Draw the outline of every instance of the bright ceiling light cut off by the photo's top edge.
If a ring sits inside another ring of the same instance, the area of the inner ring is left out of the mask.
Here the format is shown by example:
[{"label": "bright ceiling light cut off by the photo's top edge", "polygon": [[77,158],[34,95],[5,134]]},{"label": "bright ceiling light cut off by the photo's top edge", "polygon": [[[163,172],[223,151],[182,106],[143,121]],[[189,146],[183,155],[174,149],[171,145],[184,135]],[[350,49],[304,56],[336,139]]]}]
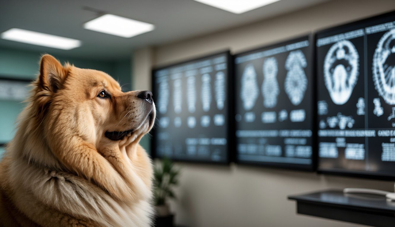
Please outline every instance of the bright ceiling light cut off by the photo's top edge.
[{"label": "bright ceiling light cut off by the photo's top edge", "polygon": [[240,14],[280,0],[195,0],[231,13]]}]

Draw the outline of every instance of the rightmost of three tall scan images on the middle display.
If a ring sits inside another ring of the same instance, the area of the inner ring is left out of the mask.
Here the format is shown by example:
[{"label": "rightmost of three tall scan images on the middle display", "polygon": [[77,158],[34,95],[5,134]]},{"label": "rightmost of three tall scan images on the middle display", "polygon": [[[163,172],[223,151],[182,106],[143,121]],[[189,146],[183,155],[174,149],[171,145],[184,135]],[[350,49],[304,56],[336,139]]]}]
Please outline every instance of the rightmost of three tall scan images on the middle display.
[{"label": "rightmost of three tall scan images on the middle display", "polygon": [[284,82],[285,93],[293,105],[299,105],[307,89],[307,76],[304,68],[307,67],[306,57],[301,50],[291,51],[285,61],[288,71]]}]

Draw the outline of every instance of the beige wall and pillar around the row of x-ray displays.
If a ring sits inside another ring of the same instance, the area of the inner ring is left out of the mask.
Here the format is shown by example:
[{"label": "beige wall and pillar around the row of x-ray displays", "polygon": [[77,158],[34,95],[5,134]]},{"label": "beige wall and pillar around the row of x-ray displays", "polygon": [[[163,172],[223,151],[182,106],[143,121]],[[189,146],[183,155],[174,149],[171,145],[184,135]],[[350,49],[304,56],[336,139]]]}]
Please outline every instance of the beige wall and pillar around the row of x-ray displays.
[{"label": "beige wall and pillar around the row of x-ray displays", "polygon": [[[222,32],[154,48],[149,61],[166,65],[194,56],[230,49],[232,53],[302,35],[328,26],[395,9],[394,0],[333,0],[301,11]],[[145,48],[134,59],[146,58]],[[146,58],[147,59],[147,58]],[[147,62],[135,64],[135,87],[145,89],[150,79]],[[141,83],[140,83],[141,82]],[[142,86],[140,88],[138,86]],[[333,177],[260,167],[178,164],[182,168],[177,201],[171,203],[180,225],[211,226],[358,226],[295,214],[287,195],[327,188],[367,187],[393,190],[393,182]]]}]

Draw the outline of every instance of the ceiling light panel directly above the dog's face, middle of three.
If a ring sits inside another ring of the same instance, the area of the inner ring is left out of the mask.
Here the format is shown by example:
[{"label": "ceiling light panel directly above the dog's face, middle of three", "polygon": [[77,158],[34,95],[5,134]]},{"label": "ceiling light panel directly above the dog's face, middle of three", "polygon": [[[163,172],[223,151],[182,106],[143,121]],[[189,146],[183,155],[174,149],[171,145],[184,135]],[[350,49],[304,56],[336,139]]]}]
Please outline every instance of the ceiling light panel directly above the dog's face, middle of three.
[{"label": "ceiling light panel directly above the dog's face, middle of three", "polygon": [[146,22],[105,14],[84,24],[84,28],[96,32],[130,38],[154,30],[155,26]]}]

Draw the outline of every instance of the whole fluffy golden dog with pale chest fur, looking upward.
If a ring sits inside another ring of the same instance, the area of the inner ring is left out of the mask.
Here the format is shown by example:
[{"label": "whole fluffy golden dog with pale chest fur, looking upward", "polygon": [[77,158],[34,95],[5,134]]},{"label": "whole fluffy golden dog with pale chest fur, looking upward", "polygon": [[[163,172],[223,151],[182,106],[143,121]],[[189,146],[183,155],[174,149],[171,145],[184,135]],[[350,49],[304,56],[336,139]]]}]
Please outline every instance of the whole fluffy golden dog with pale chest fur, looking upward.
[{"label": "whole fluffy golden dog with pale chest fur, looking upward", "polygon": [[149,91],[44,55],[0,163],[0,226],[149,226]]}]

